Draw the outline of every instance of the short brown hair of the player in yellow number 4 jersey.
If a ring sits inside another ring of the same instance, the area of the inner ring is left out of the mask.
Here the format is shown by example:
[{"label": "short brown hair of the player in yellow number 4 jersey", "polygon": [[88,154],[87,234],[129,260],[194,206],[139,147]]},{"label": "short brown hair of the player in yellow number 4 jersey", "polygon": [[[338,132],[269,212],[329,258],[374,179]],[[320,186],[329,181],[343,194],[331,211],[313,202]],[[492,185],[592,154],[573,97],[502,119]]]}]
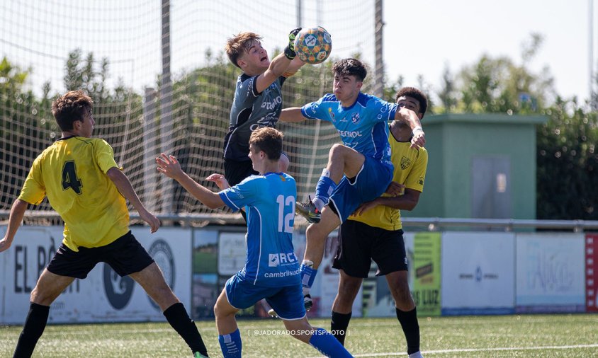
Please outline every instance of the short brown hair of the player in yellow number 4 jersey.
[{"label": "short brown hair of the player in yellow number 4 jersey", "polygon": [[69,91],[52,102],[52,115],[62,132],[73,129],[73,122],[83,120],[91,112],[91,100],[83,91]]}]

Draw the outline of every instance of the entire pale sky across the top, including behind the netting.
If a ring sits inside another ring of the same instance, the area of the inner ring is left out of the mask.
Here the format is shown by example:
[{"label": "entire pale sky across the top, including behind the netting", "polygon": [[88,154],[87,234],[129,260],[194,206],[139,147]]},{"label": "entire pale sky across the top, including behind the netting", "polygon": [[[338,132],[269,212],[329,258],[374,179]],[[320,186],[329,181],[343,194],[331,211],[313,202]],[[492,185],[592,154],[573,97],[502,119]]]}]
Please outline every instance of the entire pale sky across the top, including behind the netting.
[{"label": "entire pale sky across the top, including behind the netting", "polygon": [[[388,79],[401,74],[405,85],[417,86],[417,76],[422,75],[436,92],[445,66],[456,74],[484,53],[520,63],[521,44],[531,33],[540,33],[543,46],[529,67],[535,72],[548,67],[560,95],[583,100],[589,93],[589,1],[383,0]],[[110,58],[111,83],[120,78],[142,91],[155,82],[161,68],[159,4],[158,0],[0,0],[0,52],[34,69],[33,88],[52,81],[52,87],[61,91],[67,53],[80,47],[97,58]],[[243,30],[264,35],[269,52],[283,47],[286,34],[295,27],[295,4],[296,0],[172,0],[173,73],[200,66],[206,47],[219,52],[227,37]],[[332,34],[335,57],[355,50],[373,54],[373,40],[367,37],[373,33],[371,4],[322,0],[318,5],[316,0],[303,0],[303,23],[325,25]],[[373,56],[366,57],[372,60]]]}]

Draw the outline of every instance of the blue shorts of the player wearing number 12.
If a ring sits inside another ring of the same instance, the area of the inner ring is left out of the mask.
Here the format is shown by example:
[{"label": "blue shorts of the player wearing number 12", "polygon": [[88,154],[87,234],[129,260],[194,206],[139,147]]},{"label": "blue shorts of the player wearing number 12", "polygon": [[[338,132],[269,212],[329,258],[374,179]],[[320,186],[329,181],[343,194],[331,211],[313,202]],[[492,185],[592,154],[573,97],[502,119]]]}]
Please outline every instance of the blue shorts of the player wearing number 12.
[{"label": "blue shorts of the player wearing number 12", "polygon": [[305,317],[301,284],[283,287],[256,286],[235,275],[227,280],[225,290],[228,303],[235,308],[248,308],[257,301],[266,299],[276,315],[283,320],[298,320]]}]

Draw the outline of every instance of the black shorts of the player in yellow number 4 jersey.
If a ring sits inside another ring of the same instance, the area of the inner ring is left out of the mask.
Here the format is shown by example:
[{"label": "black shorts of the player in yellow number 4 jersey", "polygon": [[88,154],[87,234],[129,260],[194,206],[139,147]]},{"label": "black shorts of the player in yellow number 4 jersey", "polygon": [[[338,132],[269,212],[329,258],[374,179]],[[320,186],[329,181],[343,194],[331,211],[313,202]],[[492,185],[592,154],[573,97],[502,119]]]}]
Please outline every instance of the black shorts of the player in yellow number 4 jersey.
[{"label": "black shorts of the player in yellow number 4 jersey", "polygon": [[47,270],[55,275],[84,279],[98,262],[106,262],[123,277],[140,272],[150,266],[154,259],[129,231],[106,246],[80,247],[78,252],[62,243],[47,265]]}]

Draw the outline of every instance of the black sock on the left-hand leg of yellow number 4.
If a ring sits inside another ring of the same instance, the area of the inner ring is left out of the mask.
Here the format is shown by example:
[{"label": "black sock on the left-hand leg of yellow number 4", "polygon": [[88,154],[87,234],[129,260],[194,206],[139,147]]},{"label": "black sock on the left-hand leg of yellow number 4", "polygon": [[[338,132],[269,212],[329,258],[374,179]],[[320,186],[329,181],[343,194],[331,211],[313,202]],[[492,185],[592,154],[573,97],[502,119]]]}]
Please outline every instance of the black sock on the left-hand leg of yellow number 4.
[{"label": "black sock on the left-hand leg of yellow number 4", "polygon": [[31,302],[29,313],[27,313],[27,318],[23,325],[23,331],[18,336],[13,358],[31,357],[35,345],[38,344],[38,340],[42,336],[42,333],[44,333],[48,313],[50,313],[50,306],[42,306]]}]

